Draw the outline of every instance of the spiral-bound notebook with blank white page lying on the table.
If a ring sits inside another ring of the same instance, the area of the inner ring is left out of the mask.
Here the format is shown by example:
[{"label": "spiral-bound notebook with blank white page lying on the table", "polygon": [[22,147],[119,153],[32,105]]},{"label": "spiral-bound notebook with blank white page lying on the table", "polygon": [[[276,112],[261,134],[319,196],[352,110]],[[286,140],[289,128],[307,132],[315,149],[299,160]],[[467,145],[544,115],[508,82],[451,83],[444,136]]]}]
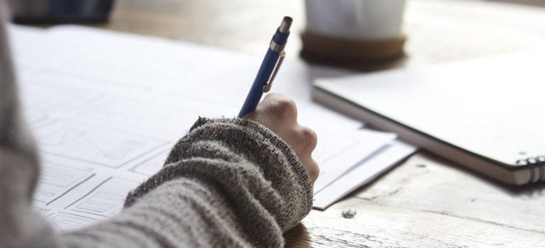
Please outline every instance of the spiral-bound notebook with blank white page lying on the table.
[{"label": "spiral-bound notebook with blank white page lying on the table", "polygon": [[545,50],[316,80],[313,99],[507,184],[544,181]]}]

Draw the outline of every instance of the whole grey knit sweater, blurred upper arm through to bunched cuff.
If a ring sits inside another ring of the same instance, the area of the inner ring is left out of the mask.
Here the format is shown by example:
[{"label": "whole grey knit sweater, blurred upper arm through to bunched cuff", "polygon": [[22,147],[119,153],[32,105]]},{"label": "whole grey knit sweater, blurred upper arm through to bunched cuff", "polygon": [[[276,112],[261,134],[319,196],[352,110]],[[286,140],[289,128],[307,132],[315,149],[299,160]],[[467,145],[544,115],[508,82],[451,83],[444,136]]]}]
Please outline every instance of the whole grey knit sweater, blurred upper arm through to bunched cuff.
[{"label": "whole grey knit sweater, blurred upper arm through to bunched cuff", "polygon": [[311,209],[286,142],[251,121],[200,118],[119,215],[58,234],[31,208],[40,163],[15,81],[0,23],[0,247],[281,247]]}]

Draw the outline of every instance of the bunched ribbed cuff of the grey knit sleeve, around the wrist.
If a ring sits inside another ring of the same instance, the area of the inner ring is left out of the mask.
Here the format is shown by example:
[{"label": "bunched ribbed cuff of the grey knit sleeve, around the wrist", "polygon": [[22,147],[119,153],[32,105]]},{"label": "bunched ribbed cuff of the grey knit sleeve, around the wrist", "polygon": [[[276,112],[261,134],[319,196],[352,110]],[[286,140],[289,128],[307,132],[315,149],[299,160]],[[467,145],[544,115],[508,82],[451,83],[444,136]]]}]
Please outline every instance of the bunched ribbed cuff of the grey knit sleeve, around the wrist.
[{"label": "bunched ribbed cuff of the grey knit sleeve, around the wrist", "polygon": [[[253,168],[247,164],[254,164]],[[246,187],[242,194],[262,198],[258,201],[275,216],[282,231],[297,225],[312,207],[311,180],[297,154],[275,133],[250,120],[199,118],[173,147],[164,169],[129,193],[125,206],[180,176],[215,178],[224,187],[231,180],[225,177],[232,177],[234,187]]]}]

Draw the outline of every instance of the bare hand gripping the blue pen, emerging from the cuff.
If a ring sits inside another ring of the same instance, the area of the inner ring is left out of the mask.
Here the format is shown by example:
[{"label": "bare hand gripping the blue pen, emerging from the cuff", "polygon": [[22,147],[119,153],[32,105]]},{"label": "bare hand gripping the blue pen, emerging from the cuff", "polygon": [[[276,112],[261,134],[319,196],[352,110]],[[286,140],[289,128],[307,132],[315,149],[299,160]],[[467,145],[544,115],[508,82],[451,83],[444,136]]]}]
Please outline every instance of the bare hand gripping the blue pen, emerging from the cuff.
[{"label": "bare hand gripping the blue pen, emerging from the cuff", "polygon": [[264,125],[285,140],[301,160],[314,184],[320,169],[311,154],[318,140],[313,130],[297,123],[297,106],[292,99],[282,94],[268,94],[256,111],[243,118]]}]

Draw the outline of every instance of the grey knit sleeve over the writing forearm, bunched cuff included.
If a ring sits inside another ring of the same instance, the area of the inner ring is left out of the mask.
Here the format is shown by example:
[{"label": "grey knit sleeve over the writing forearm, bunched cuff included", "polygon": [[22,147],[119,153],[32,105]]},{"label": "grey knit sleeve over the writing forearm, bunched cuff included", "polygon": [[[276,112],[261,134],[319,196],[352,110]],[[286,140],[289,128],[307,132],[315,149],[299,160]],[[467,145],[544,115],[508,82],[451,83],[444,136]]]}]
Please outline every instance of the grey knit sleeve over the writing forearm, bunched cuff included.
[{"label": "grey knit sleeve over the writing forearm, bunched cuff included", "polygon": [[309,175],[286,142],[248,120],[200,118],[120,215],[64,238],[74,247],[282,247],[282,232],[311,205]]}]

